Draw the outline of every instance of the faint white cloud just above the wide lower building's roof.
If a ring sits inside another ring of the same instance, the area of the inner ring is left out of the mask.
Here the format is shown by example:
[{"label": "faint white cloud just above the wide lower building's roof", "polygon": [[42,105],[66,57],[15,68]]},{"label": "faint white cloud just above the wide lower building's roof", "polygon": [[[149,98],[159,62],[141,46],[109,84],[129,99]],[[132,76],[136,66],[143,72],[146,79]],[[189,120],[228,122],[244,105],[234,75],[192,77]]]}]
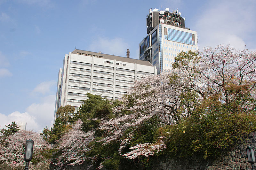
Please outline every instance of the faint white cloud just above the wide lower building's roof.
[{"label": "faint white cloud just above the wide lower building's roof", "polygon": [[92,51],[101,51],[105,54],[114,54],[125,57],[128,44],[121,38],[102,38],[92,41],[89,49]]}]

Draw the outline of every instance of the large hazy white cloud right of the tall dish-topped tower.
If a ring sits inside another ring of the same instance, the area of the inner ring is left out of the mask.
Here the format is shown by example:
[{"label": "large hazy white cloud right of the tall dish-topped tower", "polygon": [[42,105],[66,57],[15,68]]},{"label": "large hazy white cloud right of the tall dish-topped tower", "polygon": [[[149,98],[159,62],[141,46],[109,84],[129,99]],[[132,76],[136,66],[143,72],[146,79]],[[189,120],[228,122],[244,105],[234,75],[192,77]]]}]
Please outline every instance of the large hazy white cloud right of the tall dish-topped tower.
[{"label": "large hazy white cloud right of the tall dish-topped tower", "polygon": [[[256,15],[255,2],[210,1],[199,18],[195,19],[199,47],[228,44],[239,50],[244,49],[244,40],[254,32]],[[239,9],[239,10],[234,10]],[[250,13],[248,15],[245,14]]]}]

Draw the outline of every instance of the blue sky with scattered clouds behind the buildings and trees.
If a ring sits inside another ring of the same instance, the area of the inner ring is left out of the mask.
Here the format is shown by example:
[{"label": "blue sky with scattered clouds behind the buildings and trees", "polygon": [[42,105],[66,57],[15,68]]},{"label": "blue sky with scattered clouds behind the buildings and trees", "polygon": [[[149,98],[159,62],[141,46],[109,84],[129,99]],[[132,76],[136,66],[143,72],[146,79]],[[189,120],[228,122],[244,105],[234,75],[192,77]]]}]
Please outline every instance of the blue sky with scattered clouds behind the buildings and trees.
[{"label": "blue sky with scattered clouds behind the buildings and trees", "polygon": [[58,71],[75,48],[123,57],[128,48],[138,59],[150,8],[178,8],[199,50],[256,50],[255,0],[0,0],[0,128],[52,125]]}]

